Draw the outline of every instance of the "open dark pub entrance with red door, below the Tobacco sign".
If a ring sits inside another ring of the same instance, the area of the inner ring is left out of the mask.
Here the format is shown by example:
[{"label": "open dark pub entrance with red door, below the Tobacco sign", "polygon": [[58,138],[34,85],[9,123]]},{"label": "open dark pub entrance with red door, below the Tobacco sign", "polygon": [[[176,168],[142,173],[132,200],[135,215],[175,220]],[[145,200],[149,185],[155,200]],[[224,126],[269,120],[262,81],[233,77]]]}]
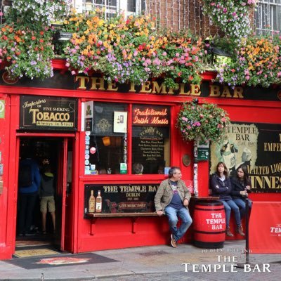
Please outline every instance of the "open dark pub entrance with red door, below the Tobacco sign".
[{"label": "open dark pub entrance with red door, below the Tobacco sign", "polygon": [[[41,184],[38,192],[30,194],[24,187],[18,189],[15,256],[20,249],[33,249],[34,253],[35,249],[44,249],[42,254],[46,249],[64,251],[65,228],[70,228],[67,226],[70,220],[65,218],[65,214],[70,214],[66,210],[66,198],[72,185],[72,138],[27,136],[20,137],[18,142],[19,171],[22,169],[22,159],[32,159],[39,169]],[[22,174],[19,173],[19,181]],[[53,193],[50,193],[50,187],[53,187]],[[41,200],[46,200],[47,196],[53,196],[54,200],[50,200],[47,209],[44,209]],[[37,252],[40,254],[40,250]]]}]

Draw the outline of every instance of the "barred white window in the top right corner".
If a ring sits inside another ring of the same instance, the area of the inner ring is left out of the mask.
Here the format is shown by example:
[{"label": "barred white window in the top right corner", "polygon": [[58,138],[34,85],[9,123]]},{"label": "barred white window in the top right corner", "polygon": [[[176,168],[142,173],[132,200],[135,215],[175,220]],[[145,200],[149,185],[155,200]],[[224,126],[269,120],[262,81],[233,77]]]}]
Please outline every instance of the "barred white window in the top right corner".
[{"label": "barred white window in the top right corner", "polygon": [[258,1],[255,11],[257,35],[281,31],[281,0]]}]

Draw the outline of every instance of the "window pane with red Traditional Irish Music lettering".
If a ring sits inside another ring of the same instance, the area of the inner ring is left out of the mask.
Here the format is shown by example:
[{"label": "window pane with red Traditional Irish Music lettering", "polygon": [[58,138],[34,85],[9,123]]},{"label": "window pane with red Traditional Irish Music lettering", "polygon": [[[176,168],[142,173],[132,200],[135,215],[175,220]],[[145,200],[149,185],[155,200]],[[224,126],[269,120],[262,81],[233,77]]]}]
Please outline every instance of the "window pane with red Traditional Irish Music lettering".
[{"label": "window pane with red Traditional Irish Music lettering", "polygon": [[170,107],[133,105],[132,173],[164,174],[170,165]]}]

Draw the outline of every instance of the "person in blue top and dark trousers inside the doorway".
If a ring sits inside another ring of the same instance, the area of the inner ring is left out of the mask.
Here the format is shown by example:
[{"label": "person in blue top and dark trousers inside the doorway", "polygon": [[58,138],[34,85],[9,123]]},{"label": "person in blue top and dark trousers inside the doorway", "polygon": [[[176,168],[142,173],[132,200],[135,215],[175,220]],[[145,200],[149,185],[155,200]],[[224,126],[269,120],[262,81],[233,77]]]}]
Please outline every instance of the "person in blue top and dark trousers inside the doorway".
[{"label": "person in blue top and dark trousers inside the doorway", "polygon": [[32,148],[25,148],[19,165],[18,175],[18,233],[19,235],[34,235],[30,231],[37,200],[41,176],[39,165],[32,158]]}]

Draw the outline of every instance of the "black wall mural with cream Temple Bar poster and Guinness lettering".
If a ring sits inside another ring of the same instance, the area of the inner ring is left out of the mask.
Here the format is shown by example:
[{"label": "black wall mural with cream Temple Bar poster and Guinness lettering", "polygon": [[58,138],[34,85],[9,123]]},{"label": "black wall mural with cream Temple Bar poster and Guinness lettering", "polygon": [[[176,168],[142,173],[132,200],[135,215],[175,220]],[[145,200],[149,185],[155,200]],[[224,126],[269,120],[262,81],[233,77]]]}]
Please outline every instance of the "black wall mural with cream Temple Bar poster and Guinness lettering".
[{"label": "black wall mural with cream Temple Bar poster and Guinness lettering", "polygon": [[281,192],[281,125],[231,123],[223,143],[211,143],[211,169],[225,162],[230,176],[247,166],[252,192]]}]

